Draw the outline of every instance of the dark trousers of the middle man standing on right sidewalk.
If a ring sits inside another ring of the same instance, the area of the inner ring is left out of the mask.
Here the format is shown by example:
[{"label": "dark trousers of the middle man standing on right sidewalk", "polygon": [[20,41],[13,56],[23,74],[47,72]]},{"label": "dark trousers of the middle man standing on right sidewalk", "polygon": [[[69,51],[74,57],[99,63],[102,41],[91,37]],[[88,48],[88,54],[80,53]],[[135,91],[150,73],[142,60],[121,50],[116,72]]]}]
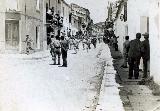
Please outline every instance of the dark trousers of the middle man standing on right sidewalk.
[{"label": "dark trousers of the middle man standing on right sidewalk", "polygon": [[128,58],[128,64],[129,64],[129,78],[132,78],[134,74],[135,79],[138,79],[140,58]]}]

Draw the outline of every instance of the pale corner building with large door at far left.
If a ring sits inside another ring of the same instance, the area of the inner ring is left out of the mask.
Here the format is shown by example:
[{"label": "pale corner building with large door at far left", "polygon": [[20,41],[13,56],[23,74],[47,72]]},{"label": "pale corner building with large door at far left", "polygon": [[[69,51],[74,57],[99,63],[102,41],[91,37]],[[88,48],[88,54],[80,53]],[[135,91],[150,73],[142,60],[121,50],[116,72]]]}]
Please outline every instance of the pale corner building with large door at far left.
[{"label": "pale corner building with large door at far left", "polygon": [[1,52],[25,52],[26,35],[35,50],[44,48],[42,0],[2,0],[0,7]]}]

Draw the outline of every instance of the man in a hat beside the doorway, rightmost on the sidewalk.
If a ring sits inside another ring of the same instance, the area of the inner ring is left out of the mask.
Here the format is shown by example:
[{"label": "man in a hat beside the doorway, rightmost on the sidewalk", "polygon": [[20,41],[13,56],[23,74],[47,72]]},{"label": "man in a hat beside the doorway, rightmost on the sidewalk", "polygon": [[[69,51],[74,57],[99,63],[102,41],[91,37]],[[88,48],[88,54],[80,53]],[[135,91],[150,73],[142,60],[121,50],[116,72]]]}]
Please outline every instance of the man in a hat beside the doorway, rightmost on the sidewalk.
[{"label": "man in a hat beside the doorway, rightmost on the sidewalk", "polygon": [[150,60],[150,45],[149,45],[149,34],[145,33],[142,34],[145,38],[144,41],[142,41],[142,58],[143,58],[143,78],[147,78],[147,70],[148,70],[148,61]]}]

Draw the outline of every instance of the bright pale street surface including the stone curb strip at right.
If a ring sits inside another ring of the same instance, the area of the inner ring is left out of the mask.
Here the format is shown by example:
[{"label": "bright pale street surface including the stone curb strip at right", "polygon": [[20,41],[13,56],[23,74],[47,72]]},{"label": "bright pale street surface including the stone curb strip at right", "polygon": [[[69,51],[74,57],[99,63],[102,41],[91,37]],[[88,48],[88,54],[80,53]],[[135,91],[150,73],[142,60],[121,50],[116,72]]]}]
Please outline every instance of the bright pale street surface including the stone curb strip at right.
[{"label": "bright pale street surface including the stone curb strip at right", "polygon": [[[69,51],[67,68],[52,65],[47,53],[39,59],[1,56],[1,111],[123,111],[108,45],[101,43],[88,53]],[[113,74],[106,78],[106,73]],[[108,96],[104,85],[112,91]]]}]

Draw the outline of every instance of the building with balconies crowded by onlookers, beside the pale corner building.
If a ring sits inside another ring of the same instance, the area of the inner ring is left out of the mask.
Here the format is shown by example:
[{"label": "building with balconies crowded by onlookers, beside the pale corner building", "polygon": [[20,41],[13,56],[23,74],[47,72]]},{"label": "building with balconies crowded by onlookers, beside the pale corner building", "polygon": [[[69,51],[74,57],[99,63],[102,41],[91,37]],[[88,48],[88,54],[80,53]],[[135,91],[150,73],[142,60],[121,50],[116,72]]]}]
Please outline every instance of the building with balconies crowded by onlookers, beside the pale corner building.
[{"label": "building with balconies crowded by onlookers, beside the pale corner building", "polygon": [[54,33],[54,35],[59,35],[61,32],[62,26],[59,25],[59,21],[62,20],[62,5],[63,0],[46,0],[46,15],[44,19],[46,19],[46,36],[49,37],[50,33]]}]

